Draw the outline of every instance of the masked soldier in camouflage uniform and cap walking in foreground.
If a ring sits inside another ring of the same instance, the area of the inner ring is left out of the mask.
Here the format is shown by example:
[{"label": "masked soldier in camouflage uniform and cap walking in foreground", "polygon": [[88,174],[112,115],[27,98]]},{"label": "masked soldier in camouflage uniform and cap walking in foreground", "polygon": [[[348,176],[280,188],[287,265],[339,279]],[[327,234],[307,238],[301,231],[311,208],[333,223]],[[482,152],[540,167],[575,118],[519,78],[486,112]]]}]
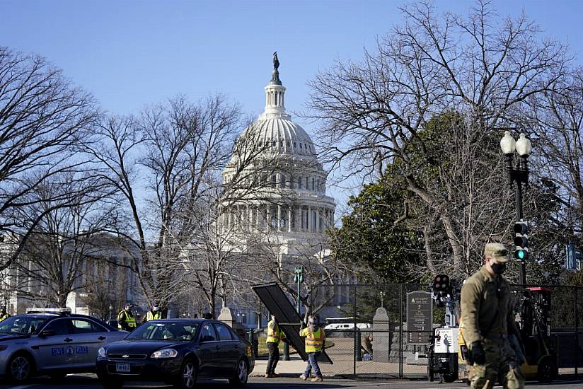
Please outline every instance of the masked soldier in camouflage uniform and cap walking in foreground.
[{"label": "masked soldier in camouflage uniform and cap walking in foreground", "polygon": [[508,389],[524,388],[524,378],[508,335],[517,334],[510,309],[510,286],[502,277],[508,262],[500,243],[488,243],[485,264],[461,289],[463,338],[470,350],[471,388],[492,389],[497,378]]}]

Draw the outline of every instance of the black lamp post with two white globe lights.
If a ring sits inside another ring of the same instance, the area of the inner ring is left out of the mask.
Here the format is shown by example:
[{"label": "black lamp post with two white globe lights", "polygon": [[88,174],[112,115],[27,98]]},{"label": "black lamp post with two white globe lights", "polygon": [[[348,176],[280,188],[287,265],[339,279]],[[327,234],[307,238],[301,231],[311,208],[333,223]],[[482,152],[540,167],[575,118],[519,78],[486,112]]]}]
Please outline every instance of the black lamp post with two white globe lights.
[{"label": "black lamp post with two white globe lights", "polygon": [[[522,184],[528,187],[529,185],[529,164],[526,158],[531,155],[531,141],[525,134],[520,134],[516,141],[510,135],[510,132],[504,132],[504,137],[500,140],[500,149],[506,156],[506,167],[508,170],[508,178],[510,185],[516,182],[516,219],[519,222],[524,221],[522,214]],[[514,168],[514,153],[517,153],[519,158],[516,161],[516,168]],[[526,250],[516,250],[515,257],[519,263],[519,284],[526,284],[526,260],[528,259]]]}]

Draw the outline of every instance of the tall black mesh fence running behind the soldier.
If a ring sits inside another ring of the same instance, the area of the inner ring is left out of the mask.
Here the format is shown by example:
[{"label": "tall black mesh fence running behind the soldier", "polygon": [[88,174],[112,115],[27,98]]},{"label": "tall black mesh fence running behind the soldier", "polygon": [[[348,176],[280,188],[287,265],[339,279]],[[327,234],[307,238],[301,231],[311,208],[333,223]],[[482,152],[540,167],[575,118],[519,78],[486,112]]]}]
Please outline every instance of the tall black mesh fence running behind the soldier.
[{"label": "tall black mesh fence running behind the soldier", "polygon": [[[534,291],[550,291],[552,303],[550,314],[546,315],[549,323],[536,325],[535,331],[548,331],[546,337],[556,352],[560,378],[578,378],[583,367],[583,331],[580,327],[583,288],[528,287]],[[520,301],[524,301],[521,296],[526,289],[514,285],[513,290],[516,292],[513,301],[518,320]],[[323,373],[362,378],[427,377],[427,352],[432,329],[426,326],[426,330],[420,331],[418,327],[408,329],[407,326],[407,296],[415,291],[429,293],[429,288],[421,284],[345,284],[317,289],[312,296],[313,306],[325,305],[318,312],[320,321],[335,327],[326,331],[328,339],[333,342],[326,352],[334,364],[322,364]],[[434,303],[432,306],[432,327],[435,328],[444,323],[445,308]],[[373,318],[377,308],[385,308],[388,318],[375,326]],[[538,318],[544,320],[541,303],[533,309]],[[458,308],[456,311],[459,312]],[[525,347],[528,350],[529,344]]]}]

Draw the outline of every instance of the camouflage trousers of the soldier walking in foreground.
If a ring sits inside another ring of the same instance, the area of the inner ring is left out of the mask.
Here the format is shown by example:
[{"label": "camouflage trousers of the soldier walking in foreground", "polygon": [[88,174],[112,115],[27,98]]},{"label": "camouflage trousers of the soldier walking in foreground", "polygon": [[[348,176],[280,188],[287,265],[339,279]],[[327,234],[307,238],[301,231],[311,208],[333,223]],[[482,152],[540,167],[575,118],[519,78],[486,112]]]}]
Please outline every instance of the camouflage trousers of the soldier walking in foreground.
[{"label": "camouflage trousers of the soldier walking in foreground", "polygon": [[524,377],[508,339],[484,339],[486,364],[473,364],[468,378],[472,389],[492,389],[496,382],[504,389],[523,389]]}]

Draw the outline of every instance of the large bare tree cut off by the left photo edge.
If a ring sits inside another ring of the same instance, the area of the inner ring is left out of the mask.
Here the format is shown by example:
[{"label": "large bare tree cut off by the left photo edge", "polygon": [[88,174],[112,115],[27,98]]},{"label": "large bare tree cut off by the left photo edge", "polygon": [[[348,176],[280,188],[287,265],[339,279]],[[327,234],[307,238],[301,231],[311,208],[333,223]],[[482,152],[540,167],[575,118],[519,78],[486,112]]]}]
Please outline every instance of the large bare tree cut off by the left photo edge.
[{"label": "large bare tree cut off by the left photo edge", "polygon": [[[22,244],[45,214],[21,219],[30,206],[28,194],[42,188],[53,175],[84,170],[79,140],[96,120],[93,98],[71,86],[61,71],[35,55],[0,47],[0,231],[19,236]],[[68,197],[52,198],[59,209]],[[21,248],[0,263],[5,269]]]}]

